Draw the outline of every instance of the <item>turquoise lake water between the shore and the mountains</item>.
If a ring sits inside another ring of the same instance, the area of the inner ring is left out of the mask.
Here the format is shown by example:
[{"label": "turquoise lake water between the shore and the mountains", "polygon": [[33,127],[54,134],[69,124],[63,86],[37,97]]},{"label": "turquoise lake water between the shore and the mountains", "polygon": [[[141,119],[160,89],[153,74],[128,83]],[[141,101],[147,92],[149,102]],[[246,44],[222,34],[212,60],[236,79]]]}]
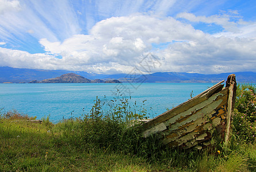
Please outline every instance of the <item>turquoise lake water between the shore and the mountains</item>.
[{"label": "turquoise lake water between the shore and the mountains", "polygon": [[[64,118],[79,117],[83,108],[90,112],[96,96],[107,102],[119,89],[122,96],[144,108],[150,118],[162,114],[167,108],[190,99],[213,83],[122,83],[122,84],[0,84],[0,108],[17,110],[41,119],[50,115],[52,122]],[[104,98],[105,97],[105,98]]]}]

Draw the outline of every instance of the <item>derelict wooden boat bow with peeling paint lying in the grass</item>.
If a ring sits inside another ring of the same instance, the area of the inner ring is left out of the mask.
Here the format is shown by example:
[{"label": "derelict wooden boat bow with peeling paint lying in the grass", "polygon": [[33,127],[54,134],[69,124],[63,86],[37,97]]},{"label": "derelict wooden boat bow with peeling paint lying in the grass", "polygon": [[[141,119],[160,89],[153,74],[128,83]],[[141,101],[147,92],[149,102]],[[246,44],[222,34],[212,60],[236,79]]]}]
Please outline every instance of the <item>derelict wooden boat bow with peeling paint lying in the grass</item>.
[{"label": "derelict wooden boat bow with peeling paint lying in the grass", "polygon": [[215,134],[228,144],[235,104],[235,75],[228,76],[226,87],[223,82],[148,120],[142,126],[143,136],[158,134],[164,144],[185,149],[206,147],[213,142]]}]

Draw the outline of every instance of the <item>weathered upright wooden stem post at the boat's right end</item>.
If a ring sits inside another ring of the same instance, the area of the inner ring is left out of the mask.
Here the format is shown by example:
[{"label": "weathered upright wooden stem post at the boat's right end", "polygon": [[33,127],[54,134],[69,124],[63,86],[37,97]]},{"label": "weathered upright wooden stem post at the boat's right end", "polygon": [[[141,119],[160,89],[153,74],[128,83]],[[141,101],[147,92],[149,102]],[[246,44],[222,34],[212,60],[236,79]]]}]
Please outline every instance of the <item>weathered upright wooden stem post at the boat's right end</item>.
[{"label": "weathered upright wooden stem post at the boat's right end", "polygon": [[231,115],[235,107],[235,97],[236,97],[236,80],[235,74],[228,76],[226,81],[226,88],[228,88],[228,102],[227,102],[227,122],[226,122],[226,134],[225,143],[229,145],[230,135],[231,135]]}]

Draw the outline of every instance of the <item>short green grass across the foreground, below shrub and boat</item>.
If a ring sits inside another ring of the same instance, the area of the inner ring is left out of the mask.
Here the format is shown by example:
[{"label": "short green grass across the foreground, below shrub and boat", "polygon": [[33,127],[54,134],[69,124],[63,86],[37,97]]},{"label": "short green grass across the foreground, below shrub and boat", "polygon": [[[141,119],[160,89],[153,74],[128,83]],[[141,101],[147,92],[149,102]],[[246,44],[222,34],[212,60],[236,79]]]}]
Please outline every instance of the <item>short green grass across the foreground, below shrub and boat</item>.
[{"label": "short green grass across the foreground, below shrub and boat", "polygon": [[58,124],[13,120],[0,122],[0,171],[250,171],[256,161],[256,146],[235,139],[232,150],[219,148],[220,154],[218,148],[170,150],[154,138],[137,143],[140,151],[135,151],[89,144],[79,138],[85,126],[78,119]]}]

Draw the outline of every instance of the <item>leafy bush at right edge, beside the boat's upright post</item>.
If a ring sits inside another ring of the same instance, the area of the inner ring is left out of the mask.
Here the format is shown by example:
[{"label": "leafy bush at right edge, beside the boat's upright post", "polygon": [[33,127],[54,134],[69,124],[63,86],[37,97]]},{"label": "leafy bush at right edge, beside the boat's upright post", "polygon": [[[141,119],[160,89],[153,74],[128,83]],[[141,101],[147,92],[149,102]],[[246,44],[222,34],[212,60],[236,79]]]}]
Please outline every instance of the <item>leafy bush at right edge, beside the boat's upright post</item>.
[{"label": "leafy bush at right edge, beside the boat's upright post", "polygon": [[244,142],[254,142],[256,137],[256,87],[238,85],[234,110],[234,132]]}]

